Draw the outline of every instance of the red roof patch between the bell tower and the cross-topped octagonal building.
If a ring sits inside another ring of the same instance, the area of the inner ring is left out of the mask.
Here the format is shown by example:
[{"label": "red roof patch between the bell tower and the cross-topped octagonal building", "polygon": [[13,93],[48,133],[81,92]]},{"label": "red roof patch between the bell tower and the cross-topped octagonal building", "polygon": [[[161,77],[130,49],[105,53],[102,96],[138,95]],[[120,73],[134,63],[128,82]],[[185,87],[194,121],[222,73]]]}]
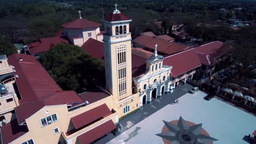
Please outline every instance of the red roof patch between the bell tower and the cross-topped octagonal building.
[{"label": "red roof patch between the bell tower and the cross-topped octagonal building", "polygon": [[101,41],[89,38],[81,48],[89,53],[92,57],[100,58],[104,60],[104,48]]}]

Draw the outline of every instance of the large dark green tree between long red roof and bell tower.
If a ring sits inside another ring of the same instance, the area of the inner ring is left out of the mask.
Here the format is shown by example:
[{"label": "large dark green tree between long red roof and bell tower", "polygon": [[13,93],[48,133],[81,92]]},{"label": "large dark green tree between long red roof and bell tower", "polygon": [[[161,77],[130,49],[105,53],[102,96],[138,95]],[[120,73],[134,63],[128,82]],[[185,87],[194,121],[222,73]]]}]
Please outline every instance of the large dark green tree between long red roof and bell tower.
[{"label": "large dark green tree between long red roof and bell tower", "polygon": [[92,58],[79,46],[53,46],[50,51],[40,55],[39,61],[64,90],[80,93],[105,85],[102,61]]}]

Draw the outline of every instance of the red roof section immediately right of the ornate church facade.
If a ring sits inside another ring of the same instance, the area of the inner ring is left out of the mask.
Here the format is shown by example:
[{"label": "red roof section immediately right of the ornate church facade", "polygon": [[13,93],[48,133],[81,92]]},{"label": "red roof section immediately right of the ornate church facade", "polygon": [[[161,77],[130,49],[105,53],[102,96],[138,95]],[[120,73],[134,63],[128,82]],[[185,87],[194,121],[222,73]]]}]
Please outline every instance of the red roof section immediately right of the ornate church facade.
[{"label": "red roof section immediately right of the ornate church facade", "polygon": [[171,65],[173,77],[186,73],[201,66],[201,62],[194,49],[183,51],[175,55],[167,56],[163,65]]}]

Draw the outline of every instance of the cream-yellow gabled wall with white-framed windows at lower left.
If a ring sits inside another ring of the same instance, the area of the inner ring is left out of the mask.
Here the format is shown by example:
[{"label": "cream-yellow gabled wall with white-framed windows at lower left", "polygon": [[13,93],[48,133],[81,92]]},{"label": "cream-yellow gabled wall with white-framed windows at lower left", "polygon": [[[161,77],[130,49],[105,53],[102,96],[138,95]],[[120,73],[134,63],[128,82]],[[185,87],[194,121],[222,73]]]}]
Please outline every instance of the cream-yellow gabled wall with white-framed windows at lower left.
[{"label": "cream-yellow gabled wall with white-framed windows at lower left", "polygon": [[[45,113],[49,111],[49,113]],[[42,127],[40,119],[57,114],[57,121]],[[20,137],[14,143],[22,143],[33,138],[34,143],[57,143],[61,140],[61,132],[67,131],[70,118],[67,117],[67,105],[46,106],[26,120],[29,130],[28,135]],[[60,133],[54,134],[54,128],[59,128]],[[63,139],[62,139],[63,141]]]}]

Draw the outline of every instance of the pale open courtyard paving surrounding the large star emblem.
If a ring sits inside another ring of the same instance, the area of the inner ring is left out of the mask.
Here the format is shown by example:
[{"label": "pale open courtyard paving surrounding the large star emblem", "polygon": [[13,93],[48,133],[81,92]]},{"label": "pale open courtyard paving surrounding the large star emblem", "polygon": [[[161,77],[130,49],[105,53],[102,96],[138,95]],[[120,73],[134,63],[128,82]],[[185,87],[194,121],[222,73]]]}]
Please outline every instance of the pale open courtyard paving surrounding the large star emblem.
[{"label": "pale open courtyard paving surrounding the large star emblem", "polygon": [[180,116],[185,121],[202,123],[202,128],[218,139],[213,143],[247,143],[243,139],[255,130],[256,117],[216,98],[207,101],[203,99],[206,95],[201,91],[186,93],[178,104],[166,105],[108,143],[164,143],[155,135],[164,127],[162,120],[170,122]]}]

